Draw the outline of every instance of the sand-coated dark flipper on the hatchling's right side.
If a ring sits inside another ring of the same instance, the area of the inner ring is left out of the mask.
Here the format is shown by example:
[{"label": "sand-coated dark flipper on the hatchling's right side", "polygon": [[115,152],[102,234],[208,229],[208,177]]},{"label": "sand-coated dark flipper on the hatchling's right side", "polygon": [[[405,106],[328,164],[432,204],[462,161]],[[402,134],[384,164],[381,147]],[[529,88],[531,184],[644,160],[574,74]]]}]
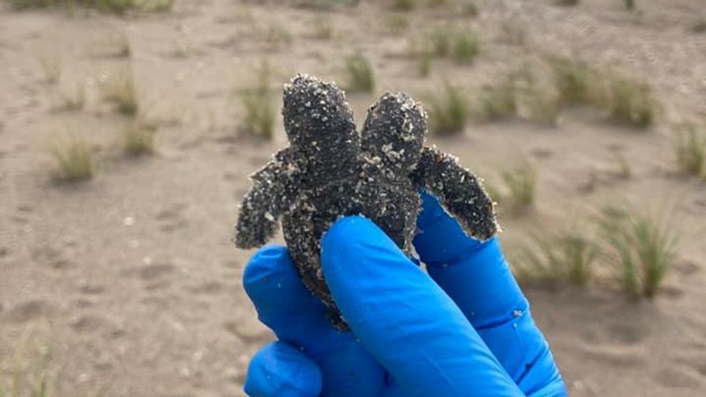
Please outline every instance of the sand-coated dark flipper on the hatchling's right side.
[{"label": "sand-coated dark flipper on the hatchling's right side", "polygon": [[455,157],[424,147],[410,177],[417,188],[436,196],[469,236],[488,240],[499,231],[493,200],[479,178],[460,166]]}]

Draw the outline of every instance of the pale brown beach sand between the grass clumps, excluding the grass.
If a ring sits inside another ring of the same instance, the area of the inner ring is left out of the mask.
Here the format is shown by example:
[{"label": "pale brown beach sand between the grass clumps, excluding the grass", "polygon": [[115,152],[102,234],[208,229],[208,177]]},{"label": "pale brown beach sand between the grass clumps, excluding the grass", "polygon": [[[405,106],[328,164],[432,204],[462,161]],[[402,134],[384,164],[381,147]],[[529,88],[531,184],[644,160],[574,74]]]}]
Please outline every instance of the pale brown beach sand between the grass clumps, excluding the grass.
[{"label": "pale brown beach sand between the grass clumps, excluding the grass", "polygon": [[[0,6],[2,382],[16,369],[32,374],[47,351],[54,396],[243,395],[249,358],[273,336],[241,288],[251,252],[229,238],[247,176],[286,145],[281,121],[273,142],[238,133],[232,92],[253,84],[261,61],[279,94],[297,72],[345,83],[342,59],[361,51],[377,85],[348,95],[360,122],[383,90],[424,100],[443,78],[470,90],[545,51],[649,81],[662,103],[657,123],[642,132],[565,111],[556,128],[472,123],[431,141],[489,181],[523,157],[537,164],[537,208],[501,216],[510,251],[527,232],[604,204],[669,209],[682,244],[654,301],[630,302],[610,280],[527,293],[573,396],[706,395],[706,183],[676,172],[673,129],[706,117],[706,35],[690,32],[706,18],[703,0],[638,0],[632,13],[618,0],[488,0],[477,1],[478,18],[421,7],[400,34],[377,2],[330,11],[283,3],[177,0],[168,13],[124,18]],[[313,37],[321,18],[333,38]],[[434,61],[420,78],[408,37],[441,24],[475,28],[481,54],[470,65]],[[508,24],[525,30],[524,45],[508,44]],[[291,42],[275,48],[264,37],[276,29]],[[116,54],[121,34],[129,58]],[[58,83],[44,81],[40,59],[59,61]],[[100,97],[101,81],[128,65],[144,117],[159,126],[148,157],[121,154],[124,116]],[[57,111],[56,97],[78,82],[85,108]],[[65,130],[90,142],[99,161],[91,181],[52,180],[49,148]],[[604,176],[616,152],[631,178]]]}]

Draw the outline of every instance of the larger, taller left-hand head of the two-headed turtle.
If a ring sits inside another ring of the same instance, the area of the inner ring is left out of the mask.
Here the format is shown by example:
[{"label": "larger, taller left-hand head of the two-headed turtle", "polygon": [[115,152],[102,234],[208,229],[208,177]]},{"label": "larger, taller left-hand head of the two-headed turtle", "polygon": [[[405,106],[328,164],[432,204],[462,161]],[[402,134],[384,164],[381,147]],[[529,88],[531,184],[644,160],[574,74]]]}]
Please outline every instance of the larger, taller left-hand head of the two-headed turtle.
[{"label": "larger, taller left-hand head of the two-headed turtle", "polygon": [[283,99],[285,130],[295,151],[312,156],[359,147],[353,112],[335,83],[299,74],[285,85]]}]

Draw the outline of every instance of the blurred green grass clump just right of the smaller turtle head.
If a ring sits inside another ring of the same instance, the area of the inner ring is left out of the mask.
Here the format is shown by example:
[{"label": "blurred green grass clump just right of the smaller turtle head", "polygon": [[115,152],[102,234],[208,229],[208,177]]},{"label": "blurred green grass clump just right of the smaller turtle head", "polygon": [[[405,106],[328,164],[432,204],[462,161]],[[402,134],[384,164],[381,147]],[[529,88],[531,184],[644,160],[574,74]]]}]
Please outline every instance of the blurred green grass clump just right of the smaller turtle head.
[{"label": "blurred green grass clump just right of the smaller turtle head", "polygon": [[462,133],[468,122],[469,103],[457,87],[445,84],[443,92],[427,101],[429,127],[436,135]]}]

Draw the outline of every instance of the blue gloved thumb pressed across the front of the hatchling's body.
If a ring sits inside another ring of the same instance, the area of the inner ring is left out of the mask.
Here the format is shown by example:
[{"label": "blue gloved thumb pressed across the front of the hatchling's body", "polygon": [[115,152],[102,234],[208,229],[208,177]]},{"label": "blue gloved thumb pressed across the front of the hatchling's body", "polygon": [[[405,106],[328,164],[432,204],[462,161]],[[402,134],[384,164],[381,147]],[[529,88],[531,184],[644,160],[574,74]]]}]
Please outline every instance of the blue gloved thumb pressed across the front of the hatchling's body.
[{"label": "blue gloved thumb pressed across the front of the hatchling's body", "polygon": [[453,300],[369,219],[337,221],[322,246],[343,317],[407,395],[522,395]]}]

